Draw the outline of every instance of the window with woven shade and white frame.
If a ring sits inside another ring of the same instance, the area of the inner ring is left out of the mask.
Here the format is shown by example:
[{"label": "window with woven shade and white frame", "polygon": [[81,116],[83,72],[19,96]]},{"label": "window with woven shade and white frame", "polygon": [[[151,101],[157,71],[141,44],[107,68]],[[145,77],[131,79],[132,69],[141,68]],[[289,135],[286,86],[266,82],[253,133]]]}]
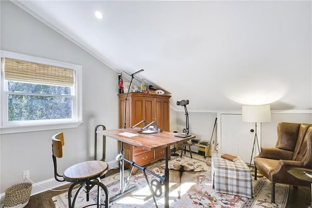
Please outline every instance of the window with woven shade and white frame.
[{"label": "window with woven shade and white frame", "polygon": [[1,69],[1,133],[81,123],[81,66],[1,51]]}]

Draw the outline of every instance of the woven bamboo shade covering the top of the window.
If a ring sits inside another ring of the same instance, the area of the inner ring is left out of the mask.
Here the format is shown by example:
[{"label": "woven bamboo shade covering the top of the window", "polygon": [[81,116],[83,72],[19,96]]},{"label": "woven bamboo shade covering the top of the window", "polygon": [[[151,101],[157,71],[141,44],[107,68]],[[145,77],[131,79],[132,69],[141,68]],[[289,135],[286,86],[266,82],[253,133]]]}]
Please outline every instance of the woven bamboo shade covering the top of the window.
[{"label": "woven bamboo shade covering the top of the window", "polygon": [[4,79],[18,82],[74,86],[75,70],[4,58]]}]

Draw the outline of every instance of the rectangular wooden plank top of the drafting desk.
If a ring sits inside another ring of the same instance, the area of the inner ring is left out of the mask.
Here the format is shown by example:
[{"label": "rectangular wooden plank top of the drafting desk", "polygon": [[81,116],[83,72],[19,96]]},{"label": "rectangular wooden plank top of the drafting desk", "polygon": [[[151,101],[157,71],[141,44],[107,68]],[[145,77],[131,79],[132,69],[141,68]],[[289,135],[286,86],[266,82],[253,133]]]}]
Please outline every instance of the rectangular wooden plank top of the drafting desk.
[{"label": "rectangular wooden plank top of the drafting desk", "polygon": [[[190,139],[194,139],[195,136],[192,135],[190,137],[181,138],[175,137],[176,133],[162,131],[153,134],[140,134],[138,133],[141,131],[140,128],[119,128],[119,129],[112,129],[112,130],[104,130],[104,131],[97,131],[99,134],[103,134],[107,137],[116,139],[118,141],[127,143],[129,145],[139,146],[141,148],[147,150],[155,150],[159,148],[164,148],[167,146],[179,144]],[[138,134],[135,137],[126,137],[119,135],[119,133],[129,132],[133,134]]]}]

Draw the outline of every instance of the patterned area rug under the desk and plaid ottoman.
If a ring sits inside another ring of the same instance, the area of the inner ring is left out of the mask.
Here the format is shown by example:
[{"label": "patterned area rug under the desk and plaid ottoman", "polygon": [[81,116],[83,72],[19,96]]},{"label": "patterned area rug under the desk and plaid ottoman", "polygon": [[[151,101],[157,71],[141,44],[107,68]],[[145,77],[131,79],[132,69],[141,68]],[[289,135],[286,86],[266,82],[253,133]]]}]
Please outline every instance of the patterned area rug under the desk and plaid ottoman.
[{"label": "patterned area rug under the desk and plaid ottoman", "polygon": [[[180,157],[171,157],[170,168],[170,193],[169,205],[172,208],[286,208],[289,186],[275,185],[275,203],[271,203],[271,183],[266,178],[253,180],[254,198],[216,193],[211,185],[211,158],[204,158],[201,155],[193,154],[193,159],[188,153]],[[150,166],[148,170],[162,176],[164,175],[164,160],[160,160]],[[129,170],[125,170],[125,180]],[[157,179],[146,173],[149,183]],[[158,179],[157,179],[158,181]],[[110,196],[119,193],[119,173],[105,177],[102,183],[106,185]],[[142,171],[130,177],[126,187],[138,187],[129,194],[110,203],[110,208],[155,208],[155,203],[151,191],[147,186],[145,176]],[[162,186],[163,187],[163,186]],[[101,191],[104,193],[104,191]],[[53,197],[56,208],[68,208],[67,193]],[[104,199],[105,197],[102,197]],[[81,208],[97,201],[97,191],[91,191],[90,201],[86,201],[86,195],[81,192],[75,208]],[[164,191],[160,197],[156,197],[157,206],[164,207]]]}]

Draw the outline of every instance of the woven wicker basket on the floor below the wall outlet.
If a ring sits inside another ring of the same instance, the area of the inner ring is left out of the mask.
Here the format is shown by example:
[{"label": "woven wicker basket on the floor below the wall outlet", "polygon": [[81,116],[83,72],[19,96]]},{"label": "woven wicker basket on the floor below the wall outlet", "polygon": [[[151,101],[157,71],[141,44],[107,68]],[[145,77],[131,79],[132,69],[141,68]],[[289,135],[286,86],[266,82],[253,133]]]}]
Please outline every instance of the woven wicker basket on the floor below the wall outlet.
[{"label": "woven wicker basket on the floor below the wall outlet", "polygon": [[4,208],[15,207],[17,205],[26,206],[32,187],[31,183],[20,183],[5,189]]}]

